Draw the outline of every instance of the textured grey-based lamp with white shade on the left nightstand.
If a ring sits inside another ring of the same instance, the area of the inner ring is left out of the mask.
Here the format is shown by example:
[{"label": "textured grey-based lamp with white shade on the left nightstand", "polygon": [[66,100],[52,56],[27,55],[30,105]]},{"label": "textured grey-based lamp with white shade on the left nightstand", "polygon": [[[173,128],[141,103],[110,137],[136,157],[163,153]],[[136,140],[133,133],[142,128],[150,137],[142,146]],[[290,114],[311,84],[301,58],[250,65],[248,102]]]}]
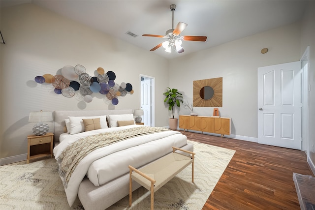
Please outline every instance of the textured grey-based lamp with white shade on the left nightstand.
[{"label": "textured grey-based lamp with white shade on the left nightstand", "polygon": [[29,122],[38,122],[33,126],[33,134],[36,136],[41,136],[45,135],[48,130],[49,126],[46,123],[47,121],[53,121],[53,113],[50,111],[42,111],[40,110],[39,112],[30,112],[29,116]]}]

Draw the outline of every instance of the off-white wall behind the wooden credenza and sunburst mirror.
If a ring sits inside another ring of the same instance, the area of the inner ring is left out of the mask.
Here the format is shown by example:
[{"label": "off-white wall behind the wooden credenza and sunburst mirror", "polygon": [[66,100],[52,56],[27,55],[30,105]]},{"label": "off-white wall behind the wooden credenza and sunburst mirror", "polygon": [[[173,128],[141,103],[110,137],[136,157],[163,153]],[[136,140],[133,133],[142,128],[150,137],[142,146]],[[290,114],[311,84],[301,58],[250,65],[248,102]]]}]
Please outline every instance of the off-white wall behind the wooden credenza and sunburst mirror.
[{"label": "off-white wall behind the wooden credenza and sunburst mirror", "polygon": [[[211,36],[207,41],[211,42]],[[262,48],[269,51],[261,54]],[[232,134],[238,138],[257,138],[257,68],[297,60],[300,23],[171,60],[170,88],[182,91],[184,99],[192,103],[193,80],[223,77],[221,117],[232,119]],[[213,107],[194,107],[193,111],[200,116],[212,116]],[[189,112],[181,107],[179,114]]]}]

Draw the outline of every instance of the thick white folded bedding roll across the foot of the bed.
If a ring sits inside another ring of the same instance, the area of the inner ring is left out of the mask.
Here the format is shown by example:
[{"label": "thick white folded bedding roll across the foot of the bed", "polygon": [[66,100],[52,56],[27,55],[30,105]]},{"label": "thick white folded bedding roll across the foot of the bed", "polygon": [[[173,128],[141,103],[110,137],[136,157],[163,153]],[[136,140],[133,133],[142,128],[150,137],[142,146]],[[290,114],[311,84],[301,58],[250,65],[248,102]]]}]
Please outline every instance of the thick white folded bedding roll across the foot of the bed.
[{"label": "thick white folded bedding roll across the foot of the bed", "polygon": [[[143,136],[143,138],[147,137]],[[171,152],[172,147],[183,147],[186,144],[186,136],[175,134],[115,152],[94,161],[88,170],[87,176],[95,186],[100,186],[126,174],[129,171],[128,165],[138,168]]]}]

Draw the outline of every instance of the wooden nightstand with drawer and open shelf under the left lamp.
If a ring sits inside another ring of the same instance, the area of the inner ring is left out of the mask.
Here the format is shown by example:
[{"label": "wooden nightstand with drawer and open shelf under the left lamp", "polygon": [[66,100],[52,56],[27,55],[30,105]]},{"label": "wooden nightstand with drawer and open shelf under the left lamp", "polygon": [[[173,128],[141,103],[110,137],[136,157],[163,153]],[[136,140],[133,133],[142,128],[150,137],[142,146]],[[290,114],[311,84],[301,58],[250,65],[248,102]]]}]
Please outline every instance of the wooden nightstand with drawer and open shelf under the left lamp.
[{"label": "wooden nightstand with drawer and open shelf under the left lamp", "polygon": [[46,133],[42,136],[28,136],[28,159],[50,156],[53,157],[54,134]]}]

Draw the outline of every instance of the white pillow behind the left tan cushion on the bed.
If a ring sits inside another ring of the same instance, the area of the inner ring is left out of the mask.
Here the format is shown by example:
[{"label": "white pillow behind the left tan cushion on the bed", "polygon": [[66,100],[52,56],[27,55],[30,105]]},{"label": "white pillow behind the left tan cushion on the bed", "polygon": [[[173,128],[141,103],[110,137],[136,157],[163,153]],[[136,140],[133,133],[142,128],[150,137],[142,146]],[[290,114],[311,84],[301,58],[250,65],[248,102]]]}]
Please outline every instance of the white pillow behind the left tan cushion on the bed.
[{"label": "white pillow behind the left tan cushion on the bed", "polygon": [[81,133],[85,131],[85,126],[82,119],[99,118],[100,127],[108,128],[106,115],[103,116],[90,116],[90,117],[68,117],[70,120],[70,134]]}]

